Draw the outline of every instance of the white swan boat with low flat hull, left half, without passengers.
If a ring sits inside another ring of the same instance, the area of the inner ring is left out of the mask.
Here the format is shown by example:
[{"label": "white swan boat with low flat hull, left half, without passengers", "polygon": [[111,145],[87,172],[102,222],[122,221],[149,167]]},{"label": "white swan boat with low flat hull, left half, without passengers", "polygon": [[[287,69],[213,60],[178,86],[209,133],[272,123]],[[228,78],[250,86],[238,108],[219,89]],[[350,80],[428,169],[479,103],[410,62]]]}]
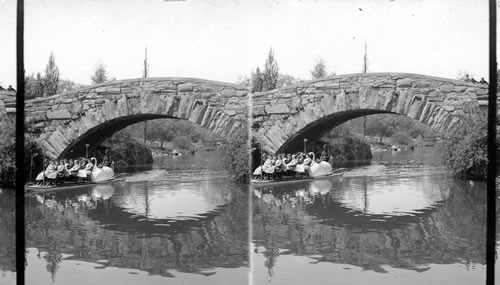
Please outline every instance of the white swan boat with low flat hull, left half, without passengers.
[{"label": "white swan boat with low flat hull, left half, without passengers", "polygon": [[[35,185],[30,182],[24,186],[24,190],[38,192],[43,190],[56,190],[56,189],[59,190],[59,189],[70,189],[70,188],[73,189],[94,184],[121,181],[127,178],[126,173],[115,175],[115,172],[111,167],[107,166],[97,167],[97,159],[95,157],[92,157],[91,160],[93,160],[94,165],[92,167],[90,175],[87,175],[86,172],[87,170],[82,169],[79,170],[76,179],[74,179],[73,181],[62,180],[62,182],[60,182],[56,180],[56,182],[59,182],[59,184],[55,183],[55,185]],[[83,181],[78,182],[79,179]]]}]

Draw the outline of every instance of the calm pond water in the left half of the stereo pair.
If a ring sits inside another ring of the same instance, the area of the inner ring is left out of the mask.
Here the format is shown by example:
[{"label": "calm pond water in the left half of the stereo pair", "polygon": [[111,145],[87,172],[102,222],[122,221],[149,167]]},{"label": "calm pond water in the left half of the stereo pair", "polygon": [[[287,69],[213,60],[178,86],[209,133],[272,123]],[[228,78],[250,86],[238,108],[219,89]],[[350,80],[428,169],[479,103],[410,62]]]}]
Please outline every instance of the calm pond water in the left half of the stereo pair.
[{"label": "calm pond water in the left half of the stereo pair", "polygon": [[28,197],[27,284],[248,283],[248,194],[219,156]]}]

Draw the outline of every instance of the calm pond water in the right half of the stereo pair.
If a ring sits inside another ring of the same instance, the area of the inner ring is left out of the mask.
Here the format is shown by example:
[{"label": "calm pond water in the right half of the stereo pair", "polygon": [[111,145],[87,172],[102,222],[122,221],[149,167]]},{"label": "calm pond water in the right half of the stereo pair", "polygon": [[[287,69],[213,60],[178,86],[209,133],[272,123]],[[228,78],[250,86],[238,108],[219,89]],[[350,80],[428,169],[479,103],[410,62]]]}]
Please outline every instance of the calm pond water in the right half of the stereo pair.
[{"label": "calm pond water in the right half of the stereo pair", "polygon": [[253,283],[484,284],[486,184],[438,158],[377,153],[343,178],[252,186]]}]

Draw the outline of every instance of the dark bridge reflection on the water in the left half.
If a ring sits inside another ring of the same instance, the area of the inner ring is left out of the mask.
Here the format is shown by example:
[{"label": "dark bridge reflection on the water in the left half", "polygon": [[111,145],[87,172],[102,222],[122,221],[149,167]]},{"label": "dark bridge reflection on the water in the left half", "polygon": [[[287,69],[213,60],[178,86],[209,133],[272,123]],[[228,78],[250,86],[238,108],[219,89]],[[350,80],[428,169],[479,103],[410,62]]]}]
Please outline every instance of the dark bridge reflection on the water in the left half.
[{"label": "dark bridge reflection on the water in the left half", "polygon": [[[107,260],[101,262],[104,267],[135,268],[167,277],[172,276],[170,269],[211,274],[205,271],[247,264],[248,196],[244,191],[233,189],[231,201],[204,218],[172,223],[132,219],[110,203],[114,197],[93,201],[87,192],[47,196],[44,205],[36,197],[28,198],[27,246],[47,252],[47,269],[54,270],[54,275],[59,253],[73,255],[68,259]],[[92,204],[96,206],[88,206]]]}]

